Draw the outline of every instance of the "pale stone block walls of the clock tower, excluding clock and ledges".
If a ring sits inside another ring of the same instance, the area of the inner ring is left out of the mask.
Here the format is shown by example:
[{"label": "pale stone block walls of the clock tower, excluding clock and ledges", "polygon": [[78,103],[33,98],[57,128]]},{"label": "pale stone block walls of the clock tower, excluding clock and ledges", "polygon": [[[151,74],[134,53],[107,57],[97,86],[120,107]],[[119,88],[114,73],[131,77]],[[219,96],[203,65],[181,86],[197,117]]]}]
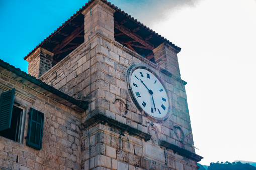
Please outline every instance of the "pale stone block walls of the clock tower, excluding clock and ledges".
[{"label": "pale stone block walls of the clock tower, excluding clock and ledges", "polygon": [[[119,169],[127,169],[127,167],[134,169],[137,161],[141,162],[141,165],[138,166],[141,169],[148,169],[148,166],[146,166],[148,164],[150,164],[152,169],[174,168],[174,164],[177,167],[182,166],[182,168],[177,169],[184,169],[185,162],[189,165],[189,169],[196,169],[197,165],[195,161],[189,159],[184,160],[182,156],[160,148],[158,145],[159,140],[164,140],[195,153],[195,149],[189,145],[193,144],[193,136],[191,134],[192,131],[184,81],[174,75],[166,74],[166,72],[156,64],[101,34],[97,34],[91,39],[91,57],[91,116],[98,113],[104,114],[118,122],[122,122],[123,124],[152,135],[152,139],[145,142],[142,141],[139,136],[135,137],[125,132],[118,132],[118,129],[109,129],[111,134],[106,134],[105,131],[100,132],[99,129],[95,130],[98,126],[103,129],[110,128],[108,126],[97,125],[90,127],[90,133],[92,133],[92,149],[93,147],[99,149],[97,152],[99,154],[92,155],[92,157],[96,157],[92,158],[91,161],[95,164],[92,164],[91,167],[102,166],[115,169],[116,166],[120,166]],[[127,91],[125,77],[127,68],[134,63],[143,64],[159,75],[170,94],[172,115],[164,124],[153,123],[153,125],[151,125],[151,121],[142,116],[131,101]],[[70,96],[81,100],[88,100],[90,96],[90,56],[88,44],[82,44],[43,75],[41,79]],[[118,101],[125,103],[127,108],[125,112],[120,112],[116,107],[115,102]],[[84,123],[89,117],[89,112],[87,111],[86,115],[82,116],[81,122]],[[179,127],[178,130],[182,130],[184,136],[186,136],[184,139],[178,135],[176,127]],[[95,135],[93,134],[94,131]],[[87,133],[88,131],[84,129],[81,137],[81,148],[83,149],[84,147],[81,164],[83,165],[83,162],[85,162],[84,166],[87,166],[88,161],[88,156],[86,155],[88,152],[87,147],[89,146],[88,138],[86,137]],[[97,138],[97,135],[101,133],[102,137]],[[111,136],[120,137],[115,138]],[[111,144],[110,142],[113,140],[117,143],[114,142]],[[129,142],[132,142],[132,144]],[[136,144],[134,144],[134,142]],[[116,146],[114,147],[114,145]],[[166,157],[157,158],[154,157],[152,153],[146,153],[145,145],[148,145],[150,148],[152,145],[153,149],[158,148],[159,154],[165,152],[162,156],[166,155]],[[136,151],[134,151],[135,148],[141,148],[140,153],[136,153]],[[109,150],[113,153],[116,152],[117,158],[115,158],[115,156],[111,157],[111,154],[107,153]],[[101,162],[98,162],[98,156],[101,156]],[[143,166],[143,162],[146,162],[144,163],[145,166]],[[157,166],[157,168],[153,166]],[[136,168],[139,169],[138,167]]]}]

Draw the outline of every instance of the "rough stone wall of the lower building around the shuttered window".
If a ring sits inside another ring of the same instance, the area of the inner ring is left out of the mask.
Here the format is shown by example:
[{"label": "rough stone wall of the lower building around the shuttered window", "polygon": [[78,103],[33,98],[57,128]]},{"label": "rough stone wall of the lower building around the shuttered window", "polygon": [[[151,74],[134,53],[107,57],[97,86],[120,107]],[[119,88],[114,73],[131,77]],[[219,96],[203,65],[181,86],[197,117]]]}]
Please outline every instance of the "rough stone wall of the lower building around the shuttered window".
[{"label": "rough stone wall of the lower building around the shuttered window", "polygon": [[[0,136],[0,169],[80,169],[80,113],[0,73],[0,93],[16,89],[24,108],[22,143]],[[44,113],[42,149],[26,145],[30,107]]]}]

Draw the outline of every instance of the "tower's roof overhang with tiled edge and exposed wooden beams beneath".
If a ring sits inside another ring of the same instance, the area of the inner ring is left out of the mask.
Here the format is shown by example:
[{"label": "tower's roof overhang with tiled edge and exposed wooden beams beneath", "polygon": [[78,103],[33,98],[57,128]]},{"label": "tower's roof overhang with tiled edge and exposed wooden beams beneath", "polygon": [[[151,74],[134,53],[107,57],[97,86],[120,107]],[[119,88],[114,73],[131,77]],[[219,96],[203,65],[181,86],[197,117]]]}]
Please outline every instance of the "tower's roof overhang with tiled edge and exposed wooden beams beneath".
[{"label": "tower's roof overhang with tiled edge and exposed wooden beams beneath", "polygon": [[[81,45],[84,42],[84,16],[82,12],[95,1],[97,0],[91,0],[86,3],[86,5],[79,9],[57,30],[37,45],[26,57],[24,57],[24,60],[32,55],[38,48],[42,47],[54,53],[53,62],[56,64]],[[110,2],[106,0],[99,1],[102,1],[116,11],[114,13],[114,36],[117,42],[140,55],[144,55],[149,60],[153,58],[152,50],[162,43],[169,44],[176,53],[181,51],[180,47],[155,33],[153,30],[149,29]]]}]

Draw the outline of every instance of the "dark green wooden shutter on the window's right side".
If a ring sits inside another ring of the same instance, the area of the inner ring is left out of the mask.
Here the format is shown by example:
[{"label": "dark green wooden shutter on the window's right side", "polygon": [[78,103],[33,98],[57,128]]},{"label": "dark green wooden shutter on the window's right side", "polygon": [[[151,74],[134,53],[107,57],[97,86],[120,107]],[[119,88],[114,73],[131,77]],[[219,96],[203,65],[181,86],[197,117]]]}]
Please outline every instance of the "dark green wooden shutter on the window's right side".
[{"label": "dark green wooden shutter on the window's right side", "polygon": [[44,113],[30,108],[27,145],[40,150],[43,140]]}]

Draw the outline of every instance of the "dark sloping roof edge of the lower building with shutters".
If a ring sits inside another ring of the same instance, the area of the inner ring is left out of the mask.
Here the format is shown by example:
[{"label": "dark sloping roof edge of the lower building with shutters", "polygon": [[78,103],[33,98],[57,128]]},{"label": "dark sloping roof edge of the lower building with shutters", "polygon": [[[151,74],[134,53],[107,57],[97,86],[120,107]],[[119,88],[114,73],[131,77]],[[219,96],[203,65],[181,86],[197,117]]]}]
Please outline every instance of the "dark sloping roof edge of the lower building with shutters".
[{"label": "dark sloping roof edge of the lower building with shutters", "polygon": [[36,91],[40,91],[40,93],[74,109],[75,111],[82,112],[88,108],[87,101],[79,101],[1,59],[0,72]]}]

